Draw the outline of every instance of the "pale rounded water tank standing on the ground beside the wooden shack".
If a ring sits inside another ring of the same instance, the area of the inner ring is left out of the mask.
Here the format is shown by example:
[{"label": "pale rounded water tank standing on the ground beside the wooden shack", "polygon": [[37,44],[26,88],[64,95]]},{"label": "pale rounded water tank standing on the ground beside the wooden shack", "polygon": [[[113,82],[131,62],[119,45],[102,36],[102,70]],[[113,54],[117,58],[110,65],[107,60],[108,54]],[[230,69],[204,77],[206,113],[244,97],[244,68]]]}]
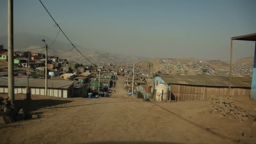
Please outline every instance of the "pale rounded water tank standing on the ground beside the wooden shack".
[{"label": "pale rounded water tank standing on the ground beside the wooden shack", "polygon": [[156,86],[155,101],[168,101],[169,100],[169,87],[164,83],[159,83]]}]

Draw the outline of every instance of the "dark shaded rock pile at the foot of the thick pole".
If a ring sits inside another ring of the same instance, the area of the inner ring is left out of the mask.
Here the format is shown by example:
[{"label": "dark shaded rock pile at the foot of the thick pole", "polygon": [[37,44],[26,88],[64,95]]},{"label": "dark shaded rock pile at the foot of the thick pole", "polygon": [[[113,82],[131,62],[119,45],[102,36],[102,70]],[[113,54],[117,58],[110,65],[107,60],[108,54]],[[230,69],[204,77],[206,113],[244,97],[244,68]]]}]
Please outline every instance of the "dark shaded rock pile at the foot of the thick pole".
[{"label": "dark shaded rock pile at the foot of the thick pole", "polygon": [[24,109],[18,111],[14,107],[13,101],[0,97],[0,124],[13,123],[29,117],[37,118],[37,115],[32,115]]}]

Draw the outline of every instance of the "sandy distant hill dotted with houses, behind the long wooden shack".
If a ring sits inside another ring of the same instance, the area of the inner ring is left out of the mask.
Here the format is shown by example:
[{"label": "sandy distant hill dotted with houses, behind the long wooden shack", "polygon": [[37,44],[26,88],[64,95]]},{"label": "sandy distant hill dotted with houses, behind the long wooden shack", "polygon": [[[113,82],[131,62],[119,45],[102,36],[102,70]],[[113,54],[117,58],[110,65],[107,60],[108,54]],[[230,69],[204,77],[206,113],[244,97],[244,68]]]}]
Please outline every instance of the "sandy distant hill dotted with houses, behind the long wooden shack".
[{"label": "sandy distant hill dotted with houses, behind the long wooden shack", "polygon": [[[234,62],[233,73],[240,74],[238,76],[250,76],[252,69],[253,58],[238,59]],[[239,64],[238,64],[239,63]],[[241,64],[241,65],[240,65]],[[139,61],[136,66],[140,69],[149,70],[153,72],[160,71],[165,74],[185,75],[202,75],[203,71],[206,75],[227,76],[229,72],[229,62],[218,59],[202,60],[194,58],[179,58],[179,59],[149,59]],[[242,70],[240,70],[242,69]]]}]

